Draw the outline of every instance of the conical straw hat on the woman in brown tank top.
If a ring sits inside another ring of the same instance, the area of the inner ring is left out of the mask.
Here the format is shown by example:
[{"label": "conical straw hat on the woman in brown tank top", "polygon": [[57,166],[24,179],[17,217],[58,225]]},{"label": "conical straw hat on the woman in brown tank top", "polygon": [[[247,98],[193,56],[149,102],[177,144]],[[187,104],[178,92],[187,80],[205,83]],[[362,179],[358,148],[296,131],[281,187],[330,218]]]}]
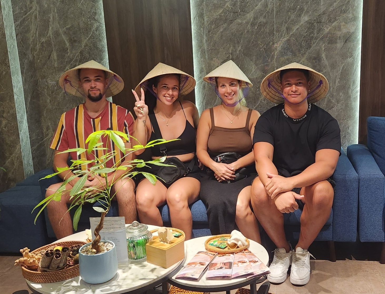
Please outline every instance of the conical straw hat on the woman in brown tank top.
[{"label": "conical straw hat on the woman in brown tank top", "polygon": [[232,60],[229,60],[218,66],[211,73],[205,76],[203,80],[216,85],[215,78],[218,77],[243,81],[244,83],[242,83],[242,88],[253,87],[253,84],[250,82],[246,74],[244,74],[243,71],[241,71],[241,69]]}]

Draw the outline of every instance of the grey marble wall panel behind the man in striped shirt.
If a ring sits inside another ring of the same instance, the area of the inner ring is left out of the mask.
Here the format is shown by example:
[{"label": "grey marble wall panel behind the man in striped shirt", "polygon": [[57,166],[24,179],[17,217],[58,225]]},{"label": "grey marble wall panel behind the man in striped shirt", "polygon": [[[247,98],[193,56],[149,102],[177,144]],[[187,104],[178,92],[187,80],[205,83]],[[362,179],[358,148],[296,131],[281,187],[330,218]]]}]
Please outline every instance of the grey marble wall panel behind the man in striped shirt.
[{"label": "grey marble wall panel behind the man in striped shirt", "polygon": [[65,95],[60,74],[94,59],[108,66],[102,0],[12,0],[35,172],[52,166],[60,115],[83,102]]}]

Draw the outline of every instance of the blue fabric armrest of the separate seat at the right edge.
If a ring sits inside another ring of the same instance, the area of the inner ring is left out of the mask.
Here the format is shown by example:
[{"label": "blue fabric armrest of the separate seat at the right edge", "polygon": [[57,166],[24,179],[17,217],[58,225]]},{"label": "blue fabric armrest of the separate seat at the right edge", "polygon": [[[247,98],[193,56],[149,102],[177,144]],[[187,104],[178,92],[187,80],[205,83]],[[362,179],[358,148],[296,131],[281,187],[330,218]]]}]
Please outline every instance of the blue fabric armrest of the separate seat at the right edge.
[{"label": "blue fabric armrest of the separate seat at the right edge", "polygon": [[348,158],[358,177],[358,232],[362,242],[383,242],[385,177],[369,149],[362,144],[348,146]]}]

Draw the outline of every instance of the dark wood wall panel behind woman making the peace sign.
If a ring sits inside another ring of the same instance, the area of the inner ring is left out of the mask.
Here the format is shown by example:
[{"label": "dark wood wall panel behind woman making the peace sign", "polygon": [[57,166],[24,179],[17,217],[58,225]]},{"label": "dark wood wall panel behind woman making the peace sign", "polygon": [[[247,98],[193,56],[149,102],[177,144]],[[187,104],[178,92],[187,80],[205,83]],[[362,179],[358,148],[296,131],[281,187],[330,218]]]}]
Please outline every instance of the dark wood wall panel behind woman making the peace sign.
[{"label": "dark wood wall panel behind woman making the peace sign", "polygon": [[[189,0],[103,0],[103,8],[109,66],[124,80],[114,103],[132,111],[131,89],[159,62],[194,76]],[[195,102],[194,91],[183,99]]]}]

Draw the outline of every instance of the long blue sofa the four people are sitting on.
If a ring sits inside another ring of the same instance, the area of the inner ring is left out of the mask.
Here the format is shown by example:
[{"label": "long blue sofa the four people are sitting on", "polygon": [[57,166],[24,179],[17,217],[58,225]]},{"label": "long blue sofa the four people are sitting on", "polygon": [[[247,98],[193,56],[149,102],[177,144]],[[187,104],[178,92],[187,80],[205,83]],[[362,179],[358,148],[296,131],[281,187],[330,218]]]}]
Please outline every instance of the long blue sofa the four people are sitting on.
[{"label": "long blue sofa the four people are sitting on", "polygon": [[[23,247],[38,248],[55,240],[47,215],[40,215],[36,225],[33,224],[36,212],[33,207],[45,195],[46,188],[59,182],[59,177],[45,180],[40,178],[53,173],[52,169],[42,170],[27,178],[16,187],[0,194],[0,234],[12,238],[0,239],[0,252],[18,252]],[[334,241],[354,242],[357,236],[357,198],[358,175],[350,164],[343,150],[334,172],[336,182],[333,210],[326,225],[318,235],[318,241],[329,241],[330,259],[335,261]],[[193,233],[195,237],[211,235],[206,208],[201,200],[191,206]],[[159,208],[164,224],[169,226],[170,215],[167,205]],[[72,211],[74,213],[74,211]],[[117,216],[117,204],[112,203],[108,216]],[[79,221],[78,230],[89,228],[89,217],[100,216],[93,209],[84,209]],[[285,231],[288,239],[298,239],[300,231],[301,211],[285,214]]]}]

